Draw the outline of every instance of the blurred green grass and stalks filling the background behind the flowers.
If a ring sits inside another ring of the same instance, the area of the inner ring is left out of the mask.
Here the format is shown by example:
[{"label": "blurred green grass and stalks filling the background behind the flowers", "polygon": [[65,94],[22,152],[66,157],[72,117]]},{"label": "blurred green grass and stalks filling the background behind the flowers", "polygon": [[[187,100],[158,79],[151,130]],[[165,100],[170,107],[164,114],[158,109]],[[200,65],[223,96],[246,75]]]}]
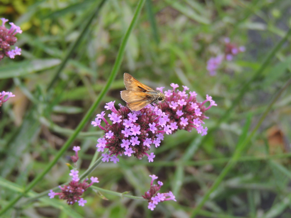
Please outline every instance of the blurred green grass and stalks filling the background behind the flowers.
[{"label": "blurred green grass and stalks filling the background behind the flowers", "polygon": [[[2,1],[23,33],[22,55],[0,62],[0,91],[16,95],[0,108],[1,216],[291,217],[290,12],[289,0]],[[210,77],[224,37],[246,52]],[[125,72],[211,95],[208,134],[166,135],[152,163],[99,164],[90,123],[106,102],[125,104]],[[85,207],[47,196],[70,180],[73,146],[83,177],[100,180]],[[148,210],[149,174],[177,202]]]}]

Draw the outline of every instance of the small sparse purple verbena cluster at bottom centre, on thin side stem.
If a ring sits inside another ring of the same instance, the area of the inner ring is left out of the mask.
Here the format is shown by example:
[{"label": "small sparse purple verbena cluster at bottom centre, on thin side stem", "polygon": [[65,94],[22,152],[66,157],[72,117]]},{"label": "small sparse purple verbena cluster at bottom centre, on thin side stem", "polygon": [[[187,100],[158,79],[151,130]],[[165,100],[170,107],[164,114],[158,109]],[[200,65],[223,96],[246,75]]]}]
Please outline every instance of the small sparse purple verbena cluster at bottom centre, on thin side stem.
[{"label": "small sparse purple verbena cluster at bottom centre, on thin side stem", "polygon": [[154,210],[159,202],[173,200],[176,201],[175,196],[171,191],[167,193],[159,193],[158,191],[162,187],[163,183],[158,181],[158,185],[153,184],[154,180],[158,177],[156,175],[150,175],[152,181],[150,182],[150,189],[142,195],[144,199],[148,201],[148,209]]}]

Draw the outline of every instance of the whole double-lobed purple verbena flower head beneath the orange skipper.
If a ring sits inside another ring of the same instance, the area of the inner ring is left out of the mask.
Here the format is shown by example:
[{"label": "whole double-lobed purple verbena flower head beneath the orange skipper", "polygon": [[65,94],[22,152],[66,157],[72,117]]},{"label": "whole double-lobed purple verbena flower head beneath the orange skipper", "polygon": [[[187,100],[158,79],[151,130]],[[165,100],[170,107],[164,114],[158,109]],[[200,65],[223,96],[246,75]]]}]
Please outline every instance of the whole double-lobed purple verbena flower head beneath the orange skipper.
[{"label": "whole double-lobed purple verbena flower head beneath the orange skipper", "polygon": [[[118,155],[135,156],[138,159],[147,156],[149,162],[153,161],[154,153],[150,155],[147,151],[151,146],[158,147],[164,134],[171,134],[178,129],[191,131],[195,128],[201,135],[207,134],[207,127],[203,128],[203,119],[208,119],[204,112],[212,106],[217,106],[211,96],[206,96],[206,100],[198,102],[196,92],[186,93],[189,88],[183,86],[184,90],[179,91],[179,86],[172,83],[172,90],[165,92],[166,101],[171,103],[169,106],[166,102],[161,103],[161,109],[157,106],[147,105],[140,111],[131,111],[127,106],[119,104],[120,109],[114,107],[115,101],[106,103],[105,108],[110,110],[108,117],[105,119],[105,111],[97,114],[92,125],[102,129],[105,135],[97,140],[97,151],[103,152],[105,148],[109,153],[102,154],[103,162],[118,162]],[[164,87],[157,88],[163,91]],[[210,106],[205,108],[204,104],[210,101]],[[164,112],[163,112],[164,111]],[[101,122],[104,122],[104,126]]]}]

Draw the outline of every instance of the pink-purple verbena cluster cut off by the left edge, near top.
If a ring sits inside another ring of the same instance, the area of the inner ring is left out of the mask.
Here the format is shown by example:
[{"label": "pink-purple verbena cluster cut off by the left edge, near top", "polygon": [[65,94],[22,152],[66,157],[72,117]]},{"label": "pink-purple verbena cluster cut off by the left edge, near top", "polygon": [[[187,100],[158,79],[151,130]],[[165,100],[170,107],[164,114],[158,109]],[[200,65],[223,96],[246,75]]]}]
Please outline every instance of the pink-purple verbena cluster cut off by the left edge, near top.
[{"label": "pink-purple verbena cluster cut off by the left edge, near top", "polygon": [[22,30],[19,26],[16,26],[14,23],[10,22],[10,29],[5,27],[5,23],[8,22],[8,19],[1,18],[2,26],[0,26],[0,60],[5,56],[9,58],[14,58],[16,55],[21,55],[21,49],[15,47],[11,49],[10,46],[14,45],[17,42],[15,37],[16,33],[22,33]]}]

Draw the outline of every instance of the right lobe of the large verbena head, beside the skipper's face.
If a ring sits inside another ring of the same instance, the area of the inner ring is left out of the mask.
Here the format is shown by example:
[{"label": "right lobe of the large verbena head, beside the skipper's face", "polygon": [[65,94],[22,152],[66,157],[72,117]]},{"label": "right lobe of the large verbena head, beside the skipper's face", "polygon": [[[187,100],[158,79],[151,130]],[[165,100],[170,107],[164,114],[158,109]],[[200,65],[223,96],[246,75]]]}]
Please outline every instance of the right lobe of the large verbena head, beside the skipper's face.
[{"label": "right lobe of the large verbena head, beside the skipper's face", "polygon": [[[166,101],[171,103],[168,105],[166,102],[161,103],[161,108],[168,117],[168,123],[172,133],[175,133],[178,129],[184,129],[191,131],[193,128],[201,135],[207,134],[207,127],[203,128],[203,120],[209,117],[205,116],[205,111],[209,110],[212,106],[217,106],[211,96],[206,95],[206,100],[198,102],[196,99],[196,92],[189,92],[187,86],[182,86],[183,90],[179,91],[178,84],[171,83],[173,90],[165,91]],[[163,92],[164,87],[157,88],[160,92]],[[205,103],[209,101],[210,105],[205,107]]]}]

